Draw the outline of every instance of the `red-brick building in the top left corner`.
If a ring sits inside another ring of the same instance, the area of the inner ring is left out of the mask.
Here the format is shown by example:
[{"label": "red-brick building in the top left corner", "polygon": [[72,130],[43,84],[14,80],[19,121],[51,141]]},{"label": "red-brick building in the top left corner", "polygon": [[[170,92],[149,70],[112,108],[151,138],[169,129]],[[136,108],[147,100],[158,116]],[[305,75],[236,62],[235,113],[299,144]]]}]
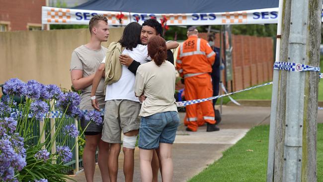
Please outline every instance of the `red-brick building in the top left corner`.
[{"label": "red-brick building in the top left corner", "polygon": [[9,22],[10,31],[27,30],[27,24],[41,24],[41,6],[46,0],[0,0],[0,22]]}]

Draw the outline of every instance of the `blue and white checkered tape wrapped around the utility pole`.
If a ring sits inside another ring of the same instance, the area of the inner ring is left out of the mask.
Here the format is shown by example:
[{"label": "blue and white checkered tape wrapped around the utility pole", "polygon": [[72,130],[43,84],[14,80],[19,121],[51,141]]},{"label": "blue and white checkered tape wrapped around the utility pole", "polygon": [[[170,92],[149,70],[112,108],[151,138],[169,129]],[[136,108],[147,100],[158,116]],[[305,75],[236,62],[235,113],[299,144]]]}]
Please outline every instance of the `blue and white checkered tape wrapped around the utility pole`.
[{"label": "blue and white checkered tape wrapped around the utility pole", "polygon": [[299,63],[275,62],[274,70],[286,70],[291,72],[304,72],[304,71],[320,72],[320,67],[313,67],[313,66],[303,65]]}]

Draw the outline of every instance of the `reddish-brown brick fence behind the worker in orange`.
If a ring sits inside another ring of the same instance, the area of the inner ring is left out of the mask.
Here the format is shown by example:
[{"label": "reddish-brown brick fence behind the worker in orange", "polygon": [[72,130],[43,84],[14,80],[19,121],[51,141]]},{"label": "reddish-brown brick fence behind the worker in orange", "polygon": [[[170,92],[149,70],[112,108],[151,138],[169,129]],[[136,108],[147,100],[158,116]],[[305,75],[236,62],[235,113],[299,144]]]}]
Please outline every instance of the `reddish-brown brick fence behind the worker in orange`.
[{"label": "reddish-brown brick fence behind the worker in orange", "polygon": [[[207,33],[199,33],[199,37],[207,39]],[[215,46],[220,47],[219,34],[216,34]],[[232,46],[233,91],[272,80],[274,62],[272,38],[232,35]],[[224,75],[222,78],[225,83]],[[230,84],[227,86],[229,91],[231,91]]]}]

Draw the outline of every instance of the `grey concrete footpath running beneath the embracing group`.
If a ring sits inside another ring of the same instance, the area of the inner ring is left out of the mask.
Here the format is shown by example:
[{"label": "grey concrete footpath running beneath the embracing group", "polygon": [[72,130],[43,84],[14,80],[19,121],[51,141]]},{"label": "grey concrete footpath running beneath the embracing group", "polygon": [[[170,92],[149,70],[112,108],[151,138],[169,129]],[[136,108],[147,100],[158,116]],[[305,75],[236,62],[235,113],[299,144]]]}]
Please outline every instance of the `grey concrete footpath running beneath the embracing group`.
[{"label": "grey concrete footpath running beneath the embracing group", "polygon": [[[180,112],[181,122],[185,113]],[[323,110],[319,110],[318,122],[322,122]],[[173,182],[186,182],[208,165],[222,157],[222,152],[237,143],[246,132],[257,125],[269,124],[270,107],[223,106],[220,131],[206,132],[206,125],[197,132],[185,131],[181,124],[172,148],[174,164]],[[124,182],[123,153],[119,156],[118,182]],[[78,182],[86,182],[84,173],[74,176]],[[101,182],[101,174],[96,166],[94,182]],[[135,149],[134,182],[140,182],[139,149]],[[159,177],[161,182],[161,176]]]}]

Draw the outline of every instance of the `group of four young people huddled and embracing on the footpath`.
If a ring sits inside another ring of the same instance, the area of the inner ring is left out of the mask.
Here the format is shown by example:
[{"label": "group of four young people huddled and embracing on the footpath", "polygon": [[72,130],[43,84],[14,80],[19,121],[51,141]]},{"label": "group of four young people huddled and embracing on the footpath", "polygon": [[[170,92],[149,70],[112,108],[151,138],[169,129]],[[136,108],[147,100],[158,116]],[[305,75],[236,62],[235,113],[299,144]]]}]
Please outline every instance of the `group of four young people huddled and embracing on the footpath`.
[{"label": "group of four young people huddled and embracing on the footpath", "polygon": [[172,181],[171,147],[179,115],[174,98],[176,71],[169,49],[179,44],[165,42],[156,19],[142,25],[129,23],[121,39],[108,48],[101,46],[109,36],[106,17],[93,16],[89,31],[90,41],[73,51],[70,67],[72,85],[82,92],[80,108],[104,108],[102,126],[81,120],[86,181],[93,182],[97,148],[102,181],[117,181],[122,143],[125,181],[132,182],[138,134],[142,182],[157,182],[159,171],[163,182]]}]

